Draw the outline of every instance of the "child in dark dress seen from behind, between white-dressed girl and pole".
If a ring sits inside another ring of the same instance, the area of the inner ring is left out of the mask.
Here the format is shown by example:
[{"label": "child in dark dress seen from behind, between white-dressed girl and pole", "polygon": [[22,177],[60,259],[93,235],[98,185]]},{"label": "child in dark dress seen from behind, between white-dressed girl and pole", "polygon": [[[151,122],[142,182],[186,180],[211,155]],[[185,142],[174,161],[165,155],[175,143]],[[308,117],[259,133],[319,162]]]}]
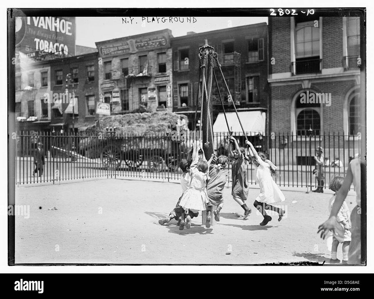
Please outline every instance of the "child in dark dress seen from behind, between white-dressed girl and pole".
[{"label": "child in dark dress seen from behind, between white-dressed girl and pole", "polygon": [[206,208],[206,223],[205,226],[209,228],[212,220],[212,209],[217,206],[214,210],[214,219],[220,221],[220,210],[223,207],[223,188],[225,187],[228,171],[226,169],[229,158],[224,155],[215,160],[211,164],[209,169],[210,180],[206,185],[206,193],[208,194],[209,203]]}]

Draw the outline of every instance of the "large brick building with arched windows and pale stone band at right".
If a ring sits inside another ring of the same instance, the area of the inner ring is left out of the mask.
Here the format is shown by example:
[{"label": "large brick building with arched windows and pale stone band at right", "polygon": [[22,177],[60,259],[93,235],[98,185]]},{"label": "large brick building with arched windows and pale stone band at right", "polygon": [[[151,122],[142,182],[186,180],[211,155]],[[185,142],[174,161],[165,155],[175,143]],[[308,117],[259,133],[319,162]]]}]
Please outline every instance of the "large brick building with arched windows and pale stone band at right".
[{"label": "large brick building with arched windows and pale stone band at right", "polygon": [[[318,139],[316,143],[325,144],[324,132],[358,134],[358,17],[269,18],[269,61],[272,132],[293,133],[292,140],[286,142],[307,142],[306,136],[311,134]],[[339,142],[347,146],[343,138]],[[276,140],[273,146],[282,143],[284,146],[284,141]]]}]

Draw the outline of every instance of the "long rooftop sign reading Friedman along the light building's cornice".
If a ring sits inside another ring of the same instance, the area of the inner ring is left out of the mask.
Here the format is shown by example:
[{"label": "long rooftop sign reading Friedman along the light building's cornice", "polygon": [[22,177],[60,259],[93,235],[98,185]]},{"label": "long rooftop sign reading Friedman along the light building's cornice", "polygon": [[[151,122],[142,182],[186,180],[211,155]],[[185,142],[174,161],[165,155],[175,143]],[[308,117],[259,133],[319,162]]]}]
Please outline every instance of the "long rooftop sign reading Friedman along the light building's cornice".
[{"label": "long rooftop sign reading Friedman along the light building's cornice", "polygon": [[101,57],[123,55],[126,53],[136,53],[142,50],[157,49],[165,47],[169,43],[168,37],[163,35],[144,37],[139,39],[129,39],[117,41],[116,43],[98,45]]}]

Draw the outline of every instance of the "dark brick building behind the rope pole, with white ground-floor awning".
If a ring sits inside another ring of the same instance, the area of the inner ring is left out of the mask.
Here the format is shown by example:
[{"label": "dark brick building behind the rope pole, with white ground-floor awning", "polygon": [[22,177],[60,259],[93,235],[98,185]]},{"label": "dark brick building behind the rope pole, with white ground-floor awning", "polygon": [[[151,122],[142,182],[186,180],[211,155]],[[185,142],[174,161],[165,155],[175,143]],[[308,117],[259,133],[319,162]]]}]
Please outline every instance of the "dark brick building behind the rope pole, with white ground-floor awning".
[{"label": "dark brick building behind the rope pole, with white ground-floor awning", "polygon": [[[199,90],[199,47],[204,39],[213,46],[222,64],[233,101],[248,132],[266,132],[266,111],[269,90],[267,84],[267,25],[266,23],[215,30],[204,33],[189,32],[186,36],[172,38],[173,50],[173,111],[188,115],[193,126],[196,95]],[[233,105],[228,101],[218,68],[215,65],[218,85],[228,112],[230,129],[241,132],[236,115],[230,113]],[[218,89],[213,83],[212,104],[214,132],[227,132]],[[255,121],[253,121],[255,120]]]}]

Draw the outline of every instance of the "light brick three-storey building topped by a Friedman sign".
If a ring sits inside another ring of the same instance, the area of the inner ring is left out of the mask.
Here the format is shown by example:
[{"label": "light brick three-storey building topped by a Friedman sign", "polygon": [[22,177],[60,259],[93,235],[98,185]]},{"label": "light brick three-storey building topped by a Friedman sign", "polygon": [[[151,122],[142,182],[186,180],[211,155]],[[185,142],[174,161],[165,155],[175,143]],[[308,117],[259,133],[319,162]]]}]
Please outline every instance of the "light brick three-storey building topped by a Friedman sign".
[{"label": "light brick three-storey building topped by a Friedman sign", "polygon": [[171,30],[96,43],[100,101],[111,114],[172,111]]}]

